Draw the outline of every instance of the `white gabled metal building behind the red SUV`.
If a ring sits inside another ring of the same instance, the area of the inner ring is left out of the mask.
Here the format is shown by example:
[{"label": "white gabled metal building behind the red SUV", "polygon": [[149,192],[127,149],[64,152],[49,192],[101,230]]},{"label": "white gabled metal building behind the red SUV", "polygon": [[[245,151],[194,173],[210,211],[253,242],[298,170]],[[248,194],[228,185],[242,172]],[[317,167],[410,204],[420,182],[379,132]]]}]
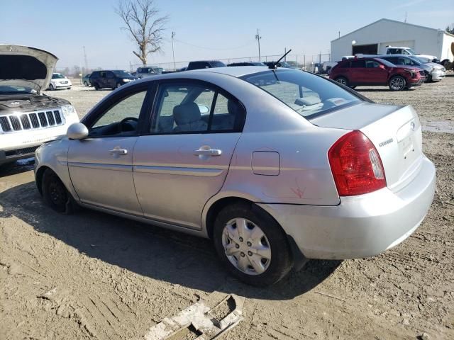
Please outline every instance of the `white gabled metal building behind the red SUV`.
[{"label": "white gabled metal building behind the red SUV", "polygon": [[451,42],[454,42],[454,35],[444,30],[380,19],[331,41],[331,60],[337,62],[343,55],[357,53],[384,55],[386,47],[391,45],[411,47],[421,55],[453,61]]}]

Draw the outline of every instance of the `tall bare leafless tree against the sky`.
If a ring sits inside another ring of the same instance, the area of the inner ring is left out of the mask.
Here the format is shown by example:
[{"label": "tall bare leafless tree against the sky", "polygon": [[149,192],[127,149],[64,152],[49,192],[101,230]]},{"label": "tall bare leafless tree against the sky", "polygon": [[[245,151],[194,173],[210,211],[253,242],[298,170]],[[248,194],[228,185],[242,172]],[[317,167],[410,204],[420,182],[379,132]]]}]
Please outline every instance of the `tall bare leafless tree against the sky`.
[{"label": "tall bare leafless tree against the sky", "polygon": [[154,0],[120,0],[115,12],[126,24],[121,29],[127,30],[138,46],[134,55],[147,64],[148,55],[161,50],[162,33],[169,17],[159,15]]}]

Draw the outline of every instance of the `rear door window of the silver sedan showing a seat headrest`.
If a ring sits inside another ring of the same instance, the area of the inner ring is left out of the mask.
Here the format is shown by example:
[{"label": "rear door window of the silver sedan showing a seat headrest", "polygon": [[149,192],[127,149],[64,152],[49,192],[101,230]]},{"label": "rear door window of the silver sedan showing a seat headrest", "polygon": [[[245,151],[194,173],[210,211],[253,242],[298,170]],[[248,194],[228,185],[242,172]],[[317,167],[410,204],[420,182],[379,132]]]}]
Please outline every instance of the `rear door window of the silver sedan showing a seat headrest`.
[{"label": "rear door window of the silver sedan showing a seat headrest", "polygon": [[165,84],[157,94],[151,133],[237,132],[245,115],[234,98],[201,84]]}]

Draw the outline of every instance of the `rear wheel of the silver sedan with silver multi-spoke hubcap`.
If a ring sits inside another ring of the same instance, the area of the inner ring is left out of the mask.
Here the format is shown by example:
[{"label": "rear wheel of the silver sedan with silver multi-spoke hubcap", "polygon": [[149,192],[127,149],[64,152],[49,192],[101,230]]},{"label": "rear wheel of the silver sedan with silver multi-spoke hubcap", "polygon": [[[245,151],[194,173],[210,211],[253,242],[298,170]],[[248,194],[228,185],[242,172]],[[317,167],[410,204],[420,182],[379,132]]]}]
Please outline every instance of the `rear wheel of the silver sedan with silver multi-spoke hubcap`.
[{"label": "rear wheel of the silver sedan with silver multi-spoke hubcap", "polygon": [[[213,242],[228,271],[249,285],[277,283],[293,266],[284,231],[267,212],[254,205],[236,203],[223,208],[214,223]],[[258,248],[261,254],[256,253]],[[230,255],[226,254],[228,249]]]}]

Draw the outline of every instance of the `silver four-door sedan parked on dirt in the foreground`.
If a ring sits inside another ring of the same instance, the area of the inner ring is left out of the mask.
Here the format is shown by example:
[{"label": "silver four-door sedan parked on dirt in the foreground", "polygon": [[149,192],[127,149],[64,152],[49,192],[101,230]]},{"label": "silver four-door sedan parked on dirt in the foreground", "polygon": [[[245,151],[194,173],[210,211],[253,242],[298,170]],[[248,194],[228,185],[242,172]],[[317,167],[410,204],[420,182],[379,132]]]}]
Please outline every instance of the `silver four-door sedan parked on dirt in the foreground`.
[{"label": "silver four-door sedan parked on dirt in the foreground", "polygon": [[226,67],[121,86],[36,151],[59,212],[81,205],[209,237],[240,280],[404,241],[436,171],[411,106],[294,69]]}]

